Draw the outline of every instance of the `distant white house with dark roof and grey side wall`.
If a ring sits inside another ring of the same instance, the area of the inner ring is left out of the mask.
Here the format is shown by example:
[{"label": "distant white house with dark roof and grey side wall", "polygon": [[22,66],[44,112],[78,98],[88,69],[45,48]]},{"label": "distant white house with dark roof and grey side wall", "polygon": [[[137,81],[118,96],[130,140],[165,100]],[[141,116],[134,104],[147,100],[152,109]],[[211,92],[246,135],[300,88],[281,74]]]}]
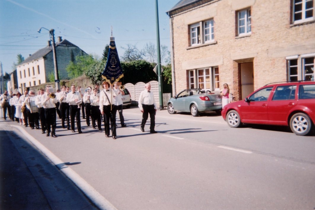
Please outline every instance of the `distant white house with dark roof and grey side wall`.
[{"label": "distant white house with dark roof and grey side wall", "polygon": [[[59,79],[69,79],[66,71],[69,62],[75,61],[77,55],[87,55],[87,53],[68,40],[62,40],[61,37],[58,37],[55,45]],[[48,41],[46,47],[26,58],[16,67],[16,70],[20,92],[23,92],[25,88],[29,89],[32,86],[49,82],[49,74],[54,73],[51,42]]]}]

